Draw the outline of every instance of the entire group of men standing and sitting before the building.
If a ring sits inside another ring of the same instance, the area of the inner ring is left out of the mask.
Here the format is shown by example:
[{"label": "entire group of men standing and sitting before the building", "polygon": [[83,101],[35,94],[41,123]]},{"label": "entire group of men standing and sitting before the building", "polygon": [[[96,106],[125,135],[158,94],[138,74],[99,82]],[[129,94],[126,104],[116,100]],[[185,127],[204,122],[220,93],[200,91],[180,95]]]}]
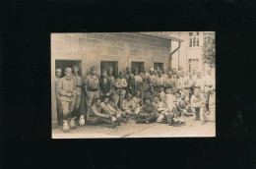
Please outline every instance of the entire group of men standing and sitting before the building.
[{"label": "entire group of men standing and sitting before the building", "polygon": [[96,75],[96,67],[83,79],[77,65],[56,69],[56,98],[59,125],[63,131],[80,125],[106,123],[111,127],[134,119],[136,123],[183,123],[186,116],[206,123],[210,113],[210,96],[215,93],[211,70],[204,77],[182,68],[163,72],[160,67],[141,72],[126,68],[114,78],[113,69],[102,70]]}]

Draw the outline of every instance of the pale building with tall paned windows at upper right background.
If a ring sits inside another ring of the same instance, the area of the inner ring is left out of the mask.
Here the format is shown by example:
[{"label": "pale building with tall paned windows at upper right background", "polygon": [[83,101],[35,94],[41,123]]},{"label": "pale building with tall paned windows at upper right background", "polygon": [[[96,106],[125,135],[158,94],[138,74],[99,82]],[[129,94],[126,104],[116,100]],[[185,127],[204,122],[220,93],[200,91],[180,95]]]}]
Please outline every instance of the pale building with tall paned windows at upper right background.
[{"label": "pale building with tall paned windows at upper right background", "polygon": [[[171,55],[171,68],[178,69],[182,67],[183,70],[191,72],[195,70],[201,75],[205,74],[206,68],[209,66],[203,62],[203,45],[206,31],[161,31],[149,32],[149,34],[156,36],[171,36],[182,39],[183,42],[173,41],[171,43],[171,51],[178,48],[178,50]],[[213,69],[215,74],[215,69]]]}]

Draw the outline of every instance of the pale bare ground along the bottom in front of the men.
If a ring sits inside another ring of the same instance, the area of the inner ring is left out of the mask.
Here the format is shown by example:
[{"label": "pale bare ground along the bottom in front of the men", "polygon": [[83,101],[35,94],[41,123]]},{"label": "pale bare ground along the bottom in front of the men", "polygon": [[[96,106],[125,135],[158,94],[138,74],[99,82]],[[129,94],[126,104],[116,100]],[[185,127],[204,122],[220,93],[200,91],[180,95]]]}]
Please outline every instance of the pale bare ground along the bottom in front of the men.
[{"label": "pale bare ground along the bottom in front of the men", "polygon": [[136,124],[132,119],[127,124],[121,124],[114,129],[106,125],[77,126],[75,130],[64,134],[62,128],[52,130],[52,139],[95,139],[95,138],[176,138],[176,137],[215,137],[215,114],[207,116],[208,122],[201,125],[200,121],[194,121],[187,117],[182,124]]}]

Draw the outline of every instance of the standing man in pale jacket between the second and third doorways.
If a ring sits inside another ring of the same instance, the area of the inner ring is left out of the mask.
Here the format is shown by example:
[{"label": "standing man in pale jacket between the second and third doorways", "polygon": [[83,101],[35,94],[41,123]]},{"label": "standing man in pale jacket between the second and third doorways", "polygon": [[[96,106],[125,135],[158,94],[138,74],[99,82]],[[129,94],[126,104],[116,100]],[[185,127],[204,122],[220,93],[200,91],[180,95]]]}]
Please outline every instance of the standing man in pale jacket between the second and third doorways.
[{"label": "standing man in pale jacket between the second and third doorways", "polygon": [[127,82],[123,77],[123,72],[119,72],[119,78],[115,81],[115,87],[116,93],[119,96],[119,108],[122,109],[122,103],[125,97],[127,87]]}]

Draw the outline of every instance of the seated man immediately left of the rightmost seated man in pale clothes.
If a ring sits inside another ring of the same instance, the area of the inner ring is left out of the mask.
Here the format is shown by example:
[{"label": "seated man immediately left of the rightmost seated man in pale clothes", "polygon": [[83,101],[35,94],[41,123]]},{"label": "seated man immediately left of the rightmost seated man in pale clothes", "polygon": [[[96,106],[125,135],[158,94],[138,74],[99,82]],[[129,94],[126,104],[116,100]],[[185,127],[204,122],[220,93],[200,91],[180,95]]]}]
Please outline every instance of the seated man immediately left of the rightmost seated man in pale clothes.
[{"label": "seated man immediately left of the rightmost seated man in pale clothes", "polygon": [[178,99],[177,110],[181,113],[181,116],[193,116],[193,112],[188,100],[185,99],[184,92],[181,93],[181,97]]}]

